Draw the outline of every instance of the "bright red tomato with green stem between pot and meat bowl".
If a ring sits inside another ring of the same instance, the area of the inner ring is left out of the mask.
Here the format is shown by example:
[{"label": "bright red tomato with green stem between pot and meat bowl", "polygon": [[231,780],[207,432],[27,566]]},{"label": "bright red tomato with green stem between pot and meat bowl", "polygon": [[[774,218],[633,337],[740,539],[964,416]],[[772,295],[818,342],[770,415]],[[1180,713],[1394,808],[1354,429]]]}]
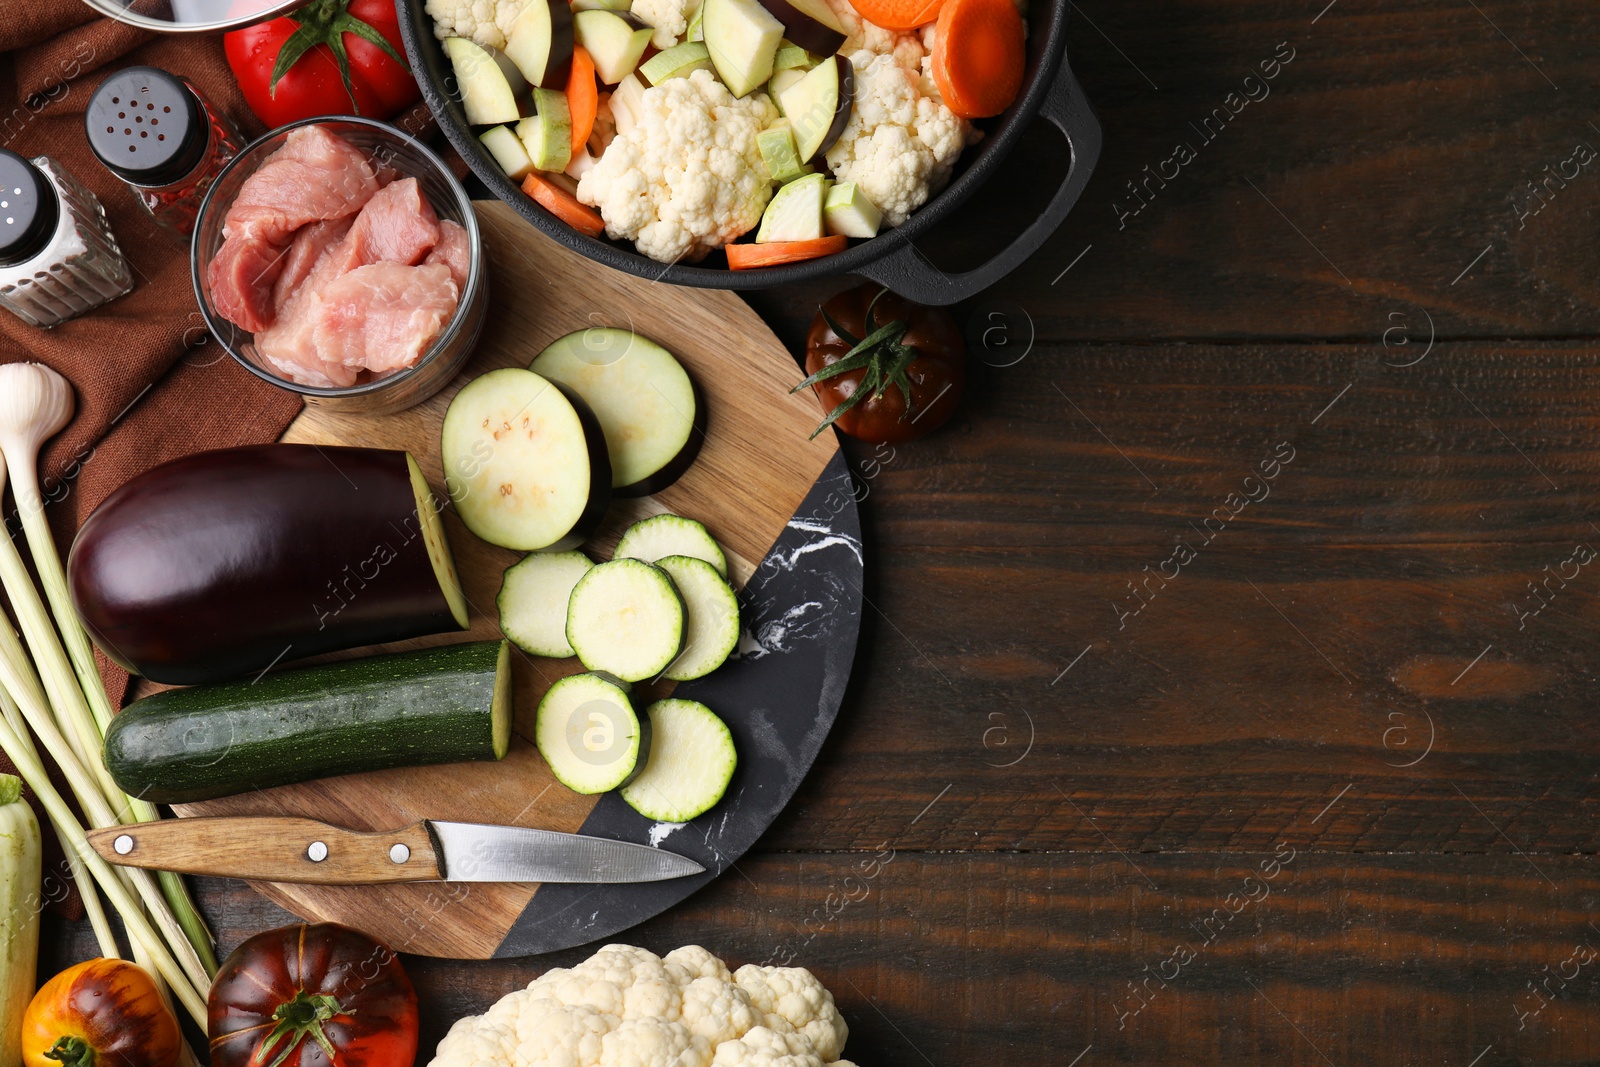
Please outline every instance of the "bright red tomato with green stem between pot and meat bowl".
[{"label": "bright red tomato with green stem between pot and meat bowl", "polygon": [[422,96],[394,0],[314,0],[224,34],[222,48],[245,102],[269,126],[336,114],[392,118]]}]

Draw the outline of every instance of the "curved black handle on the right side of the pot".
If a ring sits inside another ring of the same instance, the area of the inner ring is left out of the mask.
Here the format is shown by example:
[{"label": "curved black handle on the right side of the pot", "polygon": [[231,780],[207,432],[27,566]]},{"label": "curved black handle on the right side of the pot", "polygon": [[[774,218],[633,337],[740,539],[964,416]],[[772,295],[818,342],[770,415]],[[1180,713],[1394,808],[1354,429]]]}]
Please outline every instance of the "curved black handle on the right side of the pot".
[{"label": "curved black handle on the right side of the pot", "polygon": [[1078,202],[1090,174],[1094,173],[1101,150],[1099,118],[1094,117],[1088,96],[1083,94],[1083,86],[1072,75],[1066,59],[1062,59],[1056,83],[1050,86],[1038,114],[1061,130],[1067,139],[1067,149],[1072,152],[1072,162],[1050,205],[1034,219],[1032,226],[1018,234],[1014,242],[995,253],[984,266],[965,274],[939,270],[909,242],[883,259],[858,269],[856,274],[886,285],[899,296],[918,304],[944,306],[974,296],[1022,266],[1022,261],[1038,251],[1040,245],[1067,218],[1072,205]]}]

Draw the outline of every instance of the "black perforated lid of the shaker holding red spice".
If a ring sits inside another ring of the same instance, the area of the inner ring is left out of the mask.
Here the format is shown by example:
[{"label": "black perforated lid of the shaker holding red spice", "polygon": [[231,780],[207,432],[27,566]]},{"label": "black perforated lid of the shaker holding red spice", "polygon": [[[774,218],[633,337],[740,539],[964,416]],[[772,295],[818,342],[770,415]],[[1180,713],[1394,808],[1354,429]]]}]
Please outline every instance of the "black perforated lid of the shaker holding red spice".
[{"label": "black perforated lid of the shaker holding red spice", "polygon": [[106,170],[136,186],[181,181],[211,139],[194,91],[155,67],[128,67],[101,82],[83,126]]}]

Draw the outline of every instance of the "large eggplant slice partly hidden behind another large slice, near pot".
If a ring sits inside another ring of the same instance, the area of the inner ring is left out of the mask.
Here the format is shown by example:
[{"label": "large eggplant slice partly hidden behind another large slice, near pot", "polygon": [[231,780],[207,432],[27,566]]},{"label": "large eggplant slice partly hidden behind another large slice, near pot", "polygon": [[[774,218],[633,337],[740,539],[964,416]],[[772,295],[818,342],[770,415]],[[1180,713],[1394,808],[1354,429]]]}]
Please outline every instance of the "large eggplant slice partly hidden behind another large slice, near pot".
[{"label": "large eggplant slice partly hidden behind another large slice, near pot", "polygon": [[528,370],[570,387],[600,419],[614,496],[667,488],[690,469],[706,440],[694,384],[650,338],[629,330],[579,330],[554,341]]}]

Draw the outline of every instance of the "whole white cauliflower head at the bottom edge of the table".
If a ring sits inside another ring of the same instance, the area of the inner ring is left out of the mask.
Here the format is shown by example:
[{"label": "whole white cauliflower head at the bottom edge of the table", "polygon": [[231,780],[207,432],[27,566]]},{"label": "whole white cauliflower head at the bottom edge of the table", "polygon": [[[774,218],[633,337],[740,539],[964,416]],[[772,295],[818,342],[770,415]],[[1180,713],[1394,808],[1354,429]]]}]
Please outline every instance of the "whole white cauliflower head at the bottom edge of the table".
[{"label": "whole white cauliflower head at the bottom edge of the table", "polygon": [[456,1021],[429,1067],[853,1067],[846,1033],[806,969],[606,945]]}]

